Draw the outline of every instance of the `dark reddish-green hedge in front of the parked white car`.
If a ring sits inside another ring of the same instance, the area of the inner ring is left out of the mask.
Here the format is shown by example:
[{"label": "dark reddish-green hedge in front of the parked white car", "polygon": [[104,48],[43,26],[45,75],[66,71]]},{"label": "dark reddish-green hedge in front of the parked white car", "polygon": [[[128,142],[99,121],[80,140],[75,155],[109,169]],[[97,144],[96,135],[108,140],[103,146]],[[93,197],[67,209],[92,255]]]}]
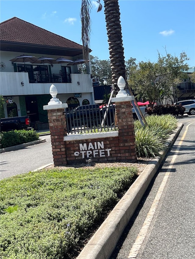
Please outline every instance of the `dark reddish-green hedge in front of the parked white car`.
[{"label": "dark reddish-green hedge in front of the parked white car", "polygon": [[148,107],[147,113],[149,115],[156,114],[156,115],[162,115],[162,114],[172,114],[173,116],[183,115],[186,108],[183,107],[181,104],[167,104],[167,105],[157,105],[153,108]]}]

